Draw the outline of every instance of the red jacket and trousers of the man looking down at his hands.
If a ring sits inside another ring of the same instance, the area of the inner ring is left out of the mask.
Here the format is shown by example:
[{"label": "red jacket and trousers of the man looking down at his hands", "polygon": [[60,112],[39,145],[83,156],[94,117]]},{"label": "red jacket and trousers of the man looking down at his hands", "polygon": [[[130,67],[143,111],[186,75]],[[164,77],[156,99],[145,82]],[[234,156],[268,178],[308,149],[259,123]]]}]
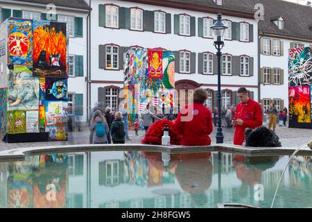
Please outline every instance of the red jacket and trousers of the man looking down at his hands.
[{"label": "red jacket and trousers of the man looking down at his hands", "polygon": [[234,115],[235,119],[242,119],[242,126],[235,126],[234,144],[243,145],[245,139],[245,128],[257,128],[262,126],[262,112],[259,103],[249,99],[247,103],[239,103]]}]

